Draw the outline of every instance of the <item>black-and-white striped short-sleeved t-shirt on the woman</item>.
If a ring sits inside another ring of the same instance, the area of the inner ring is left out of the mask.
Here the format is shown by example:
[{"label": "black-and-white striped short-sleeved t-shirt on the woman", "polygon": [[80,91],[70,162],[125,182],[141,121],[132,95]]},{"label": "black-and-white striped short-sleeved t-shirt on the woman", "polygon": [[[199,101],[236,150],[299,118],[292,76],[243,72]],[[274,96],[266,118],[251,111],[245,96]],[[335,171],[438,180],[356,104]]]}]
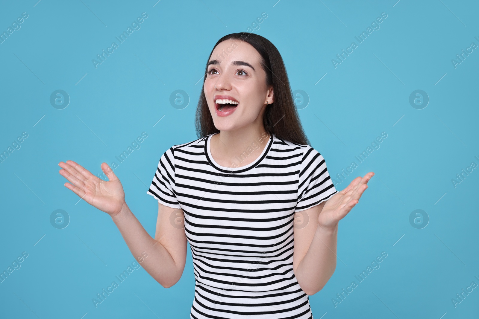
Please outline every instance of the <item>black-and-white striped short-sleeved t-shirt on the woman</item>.
[{"label": "black-and-white striped short-sleeved t-shirt on the woman", "polygon": [[[238,157],[224,167],[211,156],[214,134],[162,154],[147,191],[184,212],[195,277],[190,318],[313,318],[293,272],[293,220],[337,192],[323,156],[271,134],[252,163],[239,166]],[[259,147],[250,145],[243,158]]]}]

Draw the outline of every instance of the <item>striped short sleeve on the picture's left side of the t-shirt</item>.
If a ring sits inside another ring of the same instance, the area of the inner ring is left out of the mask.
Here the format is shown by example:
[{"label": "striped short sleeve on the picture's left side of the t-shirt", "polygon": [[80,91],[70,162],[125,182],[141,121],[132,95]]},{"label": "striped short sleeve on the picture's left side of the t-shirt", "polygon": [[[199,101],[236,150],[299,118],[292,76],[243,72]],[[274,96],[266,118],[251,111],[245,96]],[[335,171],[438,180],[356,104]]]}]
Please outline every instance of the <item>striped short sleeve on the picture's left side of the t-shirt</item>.
[{"label": "striped short sleeve on the picture's left side of the t-shirt", "polygon": [[174,150],[171,147],[161,155],[158,168],[156,169],[155,176],[153,176],[147,194],[158,199],[160,204],[180,209],[181,206],[178,203],[173,188],[175,184],[175,162],[173,152]]}]

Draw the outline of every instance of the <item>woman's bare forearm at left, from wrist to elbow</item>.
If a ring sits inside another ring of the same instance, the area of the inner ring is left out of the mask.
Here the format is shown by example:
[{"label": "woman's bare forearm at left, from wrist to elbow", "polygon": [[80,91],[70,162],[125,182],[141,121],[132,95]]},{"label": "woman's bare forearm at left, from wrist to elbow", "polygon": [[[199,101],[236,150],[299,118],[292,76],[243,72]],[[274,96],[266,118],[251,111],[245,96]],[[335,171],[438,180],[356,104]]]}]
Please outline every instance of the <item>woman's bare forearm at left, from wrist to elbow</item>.
[{"label": "woman's bare forearm at left, from wrist to elbow", "polygon": [[161,286],[171,287],[180,279],[183,269],[178,269],[171,254],[159,242],[160,239],[157,242],[148,234],[126,203],[112,220],[135,259]]}]

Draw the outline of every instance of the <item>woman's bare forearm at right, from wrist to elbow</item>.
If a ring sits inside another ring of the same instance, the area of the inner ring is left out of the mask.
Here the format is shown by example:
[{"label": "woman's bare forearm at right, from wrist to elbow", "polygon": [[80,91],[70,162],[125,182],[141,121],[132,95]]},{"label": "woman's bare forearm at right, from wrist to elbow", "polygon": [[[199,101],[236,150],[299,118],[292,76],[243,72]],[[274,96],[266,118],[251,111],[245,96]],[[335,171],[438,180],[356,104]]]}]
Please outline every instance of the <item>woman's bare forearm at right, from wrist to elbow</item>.
[{"label": "woman's bare forearm at right, from wrist to elbow", "polygon": [[295,271],[299,286],[308,295],[321,290],[336,269],[337,235],[338,224],[328,229],[318,225],[308,252]]}]

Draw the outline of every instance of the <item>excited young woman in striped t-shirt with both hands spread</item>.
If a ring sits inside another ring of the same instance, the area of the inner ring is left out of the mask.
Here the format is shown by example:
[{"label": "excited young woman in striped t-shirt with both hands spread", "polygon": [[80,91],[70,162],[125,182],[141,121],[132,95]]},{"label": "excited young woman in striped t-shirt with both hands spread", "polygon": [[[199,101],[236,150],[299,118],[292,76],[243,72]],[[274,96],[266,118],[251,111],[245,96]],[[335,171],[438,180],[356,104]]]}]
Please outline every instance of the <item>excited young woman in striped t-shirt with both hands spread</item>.
[{"label": "excited young woman in striped t-shirt with both hands spread", "polygon": [[190,243],[191,318],[312,318],[308,295],[335,270],[338,222],[374,173],[334,188],[301,127],[283,59],[260,35],[232,33],[214,46],[196,128],[199,139],[161,155],[147,191],[159,202],[155,238],[106,163],[109,181],[73,161],[60,162],[60,174],[112,217],[161,286],[181,278]]}]

